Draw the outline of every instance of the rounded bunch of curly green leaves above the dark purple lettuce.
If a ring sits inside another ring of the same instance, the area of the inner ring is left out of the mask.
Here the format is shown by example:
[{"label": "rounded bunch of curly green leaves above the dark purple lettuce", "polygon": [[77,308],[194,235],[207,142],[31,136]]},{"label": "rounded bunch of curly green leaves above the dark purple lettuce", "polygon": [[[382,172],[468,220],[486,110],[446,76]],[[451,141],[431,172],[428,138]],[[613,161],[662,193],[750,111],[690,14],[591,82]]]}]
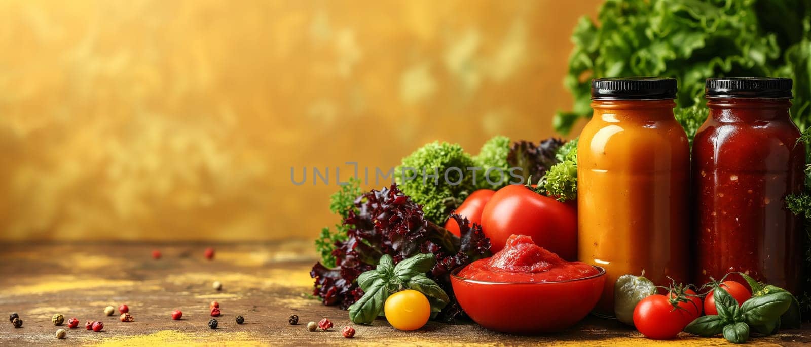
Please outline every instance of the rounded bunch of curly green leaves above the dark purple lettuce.
[{"label": "rounded bunch of curly green leaves above the dark purple lettuce", "polygon": [[[425,218],[442,225],[448,214],[476,189],[473,172],[468,171],[468,167],[477,165],[461,146],[431,142],[403,158],[394,176],[403,193],[423,206]],[[478,171],[476,174],[478,184],[479,180],[484,180],[484,172]],[[459,183],[455,184],[457,181]]]}]

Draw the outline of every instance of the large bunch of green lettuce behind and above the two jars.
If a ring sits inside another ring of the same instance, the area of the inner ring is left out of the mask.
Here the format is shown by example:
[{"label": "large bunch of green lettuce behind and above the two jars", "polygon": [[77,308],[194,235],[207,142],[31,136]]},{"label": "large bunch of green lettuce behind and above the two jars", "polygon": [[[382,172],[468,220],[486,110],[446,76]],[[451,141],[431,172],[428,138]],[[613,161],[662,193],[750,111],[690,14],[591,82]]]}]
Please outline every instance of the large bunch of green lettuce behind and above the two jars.
[{"label": "large bunch of green lettuce behind and above the two jars", "polygon": [[[701,106],[706,78],[794,78],[792,117],[811,125],[811,4],[807,0],[608,0],[597,23],[583,17],[572,34],[571,112],[552,125],[569,133],[591,116],[590,79],[663,76],[679,81],[680,108]],[[599,23],[599,24],[598,24]],[[706,112],[676,109],[688,132]],[[692,136],[690,137],[692,138]]]}]

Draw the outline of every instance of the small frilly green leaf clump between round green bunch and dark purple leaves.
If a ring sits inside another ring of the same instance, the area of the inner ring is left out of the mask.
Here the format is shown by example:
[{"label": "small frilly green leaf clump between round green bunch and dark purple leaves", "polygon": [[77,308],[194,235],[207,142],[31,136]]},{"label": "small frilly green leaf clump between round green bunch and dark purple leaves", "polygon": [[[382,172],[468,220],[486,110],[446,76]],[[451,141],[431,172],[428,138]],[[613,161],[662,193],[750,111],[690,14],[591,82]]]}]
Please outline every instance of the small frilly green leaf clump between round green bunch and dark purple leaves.
[{"label": "small frilly green leaf clump between round green bunch and dark purple leaves", "polygon": [[[478,155],[473,157],[476,165],[482,168],[482,176],[476,177],[476,185],[478,188],[498,189],[509,183],[510,176],[507,155],[509,154],[510,143],[509,138],[506,136],[494,136],[487,140],[487,142],[484,142],[482,149],[478,150]],[[490,184],[487,182],[487,179],[484,178],[487,170],[491,168],[494,168],[488,175],[491,182],[500,182],[500,184]],[[501,171],[495,169],[500,169]]]}]

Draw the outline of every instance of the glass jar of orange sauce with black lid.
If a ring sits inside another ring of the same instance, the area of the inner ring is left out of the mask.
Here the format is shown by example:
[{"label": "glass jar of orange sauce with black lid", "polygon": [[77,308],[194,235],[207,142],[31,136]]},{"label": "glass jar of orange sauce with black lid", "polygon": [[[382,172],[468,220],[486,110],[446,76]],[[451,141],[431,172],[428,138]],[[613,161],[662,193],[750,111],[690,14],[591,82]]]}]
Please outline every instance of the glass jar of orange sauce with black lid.
[{"label": "glass jar of orange sauce with black lid", "polygon": [[577,146],[577,251],[606,269],[594,311],[612,316],[617,277],[688,282],[689,142],[673,78],[594,79],[591,99]]}]

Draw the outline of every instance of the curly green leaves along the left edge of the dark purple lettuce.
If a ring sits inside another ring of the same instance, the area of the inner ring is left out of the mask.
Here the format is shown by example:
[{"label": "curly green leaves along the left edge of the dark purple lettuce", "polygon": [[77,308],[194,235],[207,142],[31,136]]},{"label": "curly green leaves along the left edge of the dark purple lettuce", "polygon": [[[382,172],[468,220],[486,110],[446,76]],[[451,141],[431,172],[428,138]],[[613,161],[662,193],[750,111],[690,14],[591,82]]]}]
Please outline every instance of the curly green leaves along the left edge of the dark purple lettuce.
[{"label": "curly green leaves along the left edge of the dark purple lettuce", "polygon": [[[329,197],[329,210],[333,214],[341,217],[341,221],[349,216],[350,210],[355,210],[354,201],[363,192],[360,189],[360,180],[350,178],[345,185],[341,185],[336,193]],[[339,222],[335,225],[335,231],[330,231],[328,226],[321,229],[321,233],[315,239],[315,250],[321,255],[321,264],[328,268],[335,267],[336,259],[333,251],[337,248],[336,243],[346,240],[346,231],[349,231],[349,226]]]}]

